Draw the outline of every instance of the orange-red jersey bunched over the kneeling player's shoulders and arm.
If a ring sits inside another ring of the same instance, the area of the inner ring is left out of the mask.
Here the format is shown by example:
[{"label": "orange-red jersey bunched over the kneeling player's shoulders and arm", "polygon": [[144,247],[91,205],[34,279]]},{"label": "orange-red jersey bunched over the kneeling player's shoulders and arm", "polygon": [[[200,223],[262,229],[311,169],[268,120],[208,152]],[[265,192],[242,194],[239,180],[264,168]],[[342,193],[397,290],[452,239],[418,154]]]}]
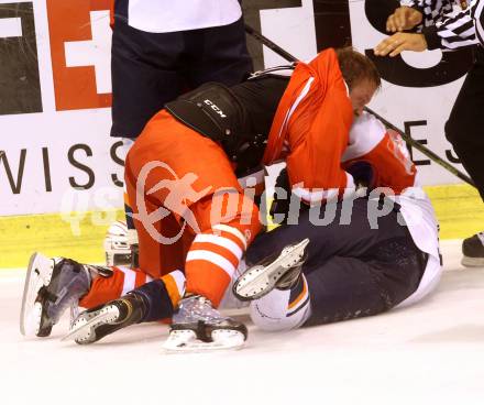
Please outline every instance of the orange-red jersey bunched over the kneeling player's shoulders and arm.
[{"label": "orange-red jersey bunched over the kneeling player's shoulders and arm", "polygon": [[[354,188],[341,167],[353,109],[334,50],[298,63],[271,127],[263,163],[286,157],[293,193],[307,202]],[[284,146],[288,154],[285,156]]]}]

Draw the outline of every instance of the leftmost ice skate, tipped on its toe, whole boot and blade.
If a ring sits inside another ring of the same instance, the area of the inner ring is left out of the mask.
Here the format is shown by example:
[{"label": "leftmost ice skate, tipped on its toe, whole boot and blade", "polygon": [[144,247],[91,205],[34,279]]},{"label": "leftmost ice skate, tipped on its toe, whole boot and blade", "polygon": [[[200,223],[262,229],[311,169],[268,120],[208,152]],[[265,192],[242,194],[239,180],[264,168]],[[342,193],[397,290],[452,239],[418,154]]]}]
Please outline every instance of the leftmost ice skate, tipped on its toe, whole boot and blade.
[{"label": "leftmost ice skate, tipped on its toe, whole boot and blade", "polygon": [[88,266],[70,259],[48,259],[34,253],[29,262],[23,289],[20,331],[24,336],[45,337],[61,316],[72,307],[91,284]]}]

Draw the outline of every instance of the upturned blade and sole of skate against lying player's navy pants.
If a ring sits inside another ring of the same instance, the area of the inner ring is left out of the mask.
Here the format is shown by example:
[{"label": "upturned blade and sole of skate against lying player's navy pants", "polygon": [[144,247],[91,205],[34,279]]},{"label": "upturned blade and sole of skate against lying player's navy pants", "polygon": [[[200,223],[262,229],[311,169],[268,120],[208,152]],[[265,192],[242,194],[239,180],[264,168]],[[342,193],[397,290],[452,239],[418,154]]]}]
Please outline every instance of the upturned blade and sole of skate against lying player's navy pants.
[{"label": "upturned blade and sole of skate against lying player's navy pants", "polygon": [[257,299],[268,294],[286,271],[302,260],[308,243],[309,239],[306,238],[297,244],[284,248],[278,258],[268,265],[255,265],[246,270],[234,283],[233,294],[241,300]]}]

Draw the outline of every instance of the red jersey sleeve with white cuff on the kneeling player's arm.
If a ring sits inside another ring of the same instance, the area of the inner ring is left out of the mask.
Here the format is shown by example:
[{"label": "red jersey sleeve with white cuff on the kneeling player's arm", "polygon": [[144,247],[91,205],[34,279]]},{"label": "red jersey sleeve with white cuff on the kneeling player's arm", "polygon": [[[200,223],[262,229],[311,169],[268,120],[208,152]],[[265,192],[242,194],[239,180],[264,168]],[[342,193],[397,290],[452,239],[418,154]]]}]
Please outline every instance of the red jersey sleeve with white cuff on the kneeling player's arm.
[{"label": "red jersey sleeve with white cuff on the kneeling player's arm", "polygon": [[354,190],[353,177],[341,166],[353,109],[333,50],[321,53],[310,67],[314,83],[288,122],[286,163],[293,193],[306,202],[319,202]]}]

